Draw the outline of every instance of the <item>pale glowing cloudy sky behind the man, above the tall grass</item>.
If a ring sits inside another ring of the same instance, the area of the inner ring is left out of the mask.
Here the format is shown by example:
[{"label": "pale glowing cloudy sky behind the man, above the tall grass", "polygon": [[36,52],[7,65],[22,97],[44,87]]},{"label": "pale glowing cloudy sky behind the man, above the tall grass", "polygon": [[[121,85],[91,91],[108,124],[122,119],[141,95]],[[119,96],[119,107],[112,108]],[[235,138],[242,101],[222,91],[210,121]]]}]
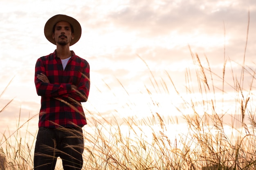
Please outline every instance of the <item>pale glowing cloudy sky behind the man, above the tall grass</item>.
[{"label": "pale glowing cloudy sky behind the man, above the tall grass", "polygon": [[[90,64],[90,95],[83,104],[89,122],[90,115],[110,120],[177,115],[182,101],[171,79],[186,93],[191,52],[206,67],[207,57],[216,75],[225,60],[230,62],[227,82],[240,75],[244,54],[245,65],[256,68],[254,0],[0,0],[0,94],[7,87],[0,110],[13,99],[0,113],[0,132],[12,132],[33,116],[28,127],[36,131],[40,97],[34,67],[56,49],[43,33],[56,14],[74,17],[82,26],[81,39],[70,49]],[[245,77],[245,84],[251,81]],[[191,80],[192,86],[196,82]]]}]

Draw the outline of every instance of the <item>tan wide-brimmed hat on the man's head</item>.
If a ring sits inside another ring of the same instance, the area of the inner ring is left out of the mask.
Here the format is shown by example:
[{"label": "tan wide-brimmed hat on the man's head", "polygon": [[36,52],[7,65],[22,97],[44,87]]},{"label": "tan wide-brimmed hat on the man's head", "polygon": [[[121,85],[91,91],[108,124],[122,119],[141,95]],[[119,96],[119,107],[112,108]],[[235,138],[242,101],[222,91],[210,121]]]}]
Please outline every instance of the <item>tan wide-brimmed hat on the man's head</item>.
[{"label": "tan wide-brimmed hat on the man's head", "polygon": [[52,31],[53,31],[53,26],[61,21],[66,21],[68,23],[70,23],[73,26],[74,29],[74,39],[71,40],[70,42],[70,46],[74,45],[76,42],[78,42],[78,40],[81,37],[81,33],[82,33],[82,29],[81,29],[81,25],[79,24],[79,22],[67,15],[54,15],[52,18],[50,18],[46,24],[45,24],[45,37],[47,38],[47,40],[49,42],[52,42],[52,44],[56,45],[56,41],[54,40],[54,38],[52,38]]}]

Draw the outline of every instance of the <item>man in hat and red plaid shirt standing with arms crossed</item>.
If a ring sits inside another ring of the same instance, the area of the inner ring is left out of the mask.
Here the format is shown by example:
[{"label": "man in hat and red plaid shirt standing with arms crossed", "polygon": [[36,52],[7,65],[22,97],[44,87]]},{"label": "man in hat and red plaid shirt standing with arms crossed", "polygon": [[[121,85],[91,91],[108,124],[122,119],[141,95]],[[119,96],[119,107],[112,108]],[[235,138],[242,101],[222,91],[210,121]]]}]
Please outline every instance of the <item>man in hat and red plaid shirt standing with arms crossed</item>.
[{"label": "man in hat and red plaid shirt standing with arms crossed", "polygon": [[54,170],[57,157],[64,170],[83,166],[83,131],[86,124],[81,102],[90,89],[88,62],[70,51],[81,37],[81,25],[67,15],[55,15],[45,24],[45,37],[56,45],[54,53],[36,62],[35,85],[41,96],[34,170]]}]

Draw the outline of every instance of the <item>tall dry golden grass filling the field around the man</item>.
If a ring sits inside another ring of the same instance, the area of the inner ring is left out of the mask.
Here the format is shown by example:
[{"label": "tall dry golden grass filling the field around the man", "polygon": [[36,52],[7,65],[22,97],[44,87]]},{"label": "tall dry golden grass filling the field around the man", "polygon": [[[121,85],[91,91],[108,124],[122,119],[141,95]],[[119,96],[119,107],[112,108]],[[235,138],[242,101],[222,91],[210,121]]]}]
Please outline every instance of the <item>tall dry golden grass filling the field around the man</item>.
[{"label": "tall dry golden grass filling the field around the man", "polygon": [[[104,115],[88,110],[89,124],[83,132],[84,170],[256,169],[255,71],[243,63],[241,75],[236,77],[232,66],[231,73],[227,73],[228,62],[225,59],[222,74],[217,74],[211,70],[207,57],[202,62],[197,54],[191,52],[191,56],[195,67],[185,73],[186,93],[177,90],[175,81],[167,72],[168,78],[157,82],[150,71],[155,92],[162,87],[165,93],[171,95],[169,91],[173,88],[181,99],[182,104],[175,106],[180,118],[152,112],[143,119],[128,117],[120,121],[113,116],[111,118],[115,121],[110,121]],[[233,82],[225,80],[227,74],[233,76]],[[251,77],[248,87],[243,84],[246,74]],[[194,85],[195,80],[197,86]],[[168,86],[167,82],[171,82],[172,86]],[[215,85],[216,82],[218,85]],[[227,87],[232,90],[226,91]],[[147,91],[147,95],[153,93],[148,88]],[[230,111],[225,110],[226,96],[233,97],[229,104],[234,108]],[[160,107],[154,98],[151,101],[151,105]],[[2,134],[0,170],[33,169],[32,148],[36,135],[27,132],[25,140],[22,140],[24,136],[19,133],[21,127],[26,125],[29,128],[29,121],[33,118],[18,125],[14,133]],[[181,120],[185,130],[175,132],[173,127],[181,127]],[[27,138],[33,138],[32,143],[27,143]],[[56,169],[61,168],[56,166]]]}]

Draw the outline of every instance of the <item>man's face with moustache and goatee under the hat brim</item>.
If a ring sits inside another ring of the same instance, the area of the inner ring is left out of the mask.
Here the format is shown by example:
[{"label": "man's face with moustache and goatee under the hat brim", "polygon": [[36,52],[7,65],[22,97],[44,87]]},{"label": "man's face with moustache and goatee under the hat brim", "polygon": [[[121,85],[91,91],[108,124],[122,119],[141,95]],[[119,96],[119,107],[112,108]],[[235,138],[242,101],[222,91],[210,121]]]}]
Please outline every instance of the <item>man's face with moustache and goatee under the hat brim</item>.
[{"label": "man's face with moustache and goatee under the hat brim", "polygon": [[52,38],[54,38],[56,43],[61,46],[69,44],[70,41],[74,39],[74,33],[71,31],[70,23],[65,21],[56,23]]}]

